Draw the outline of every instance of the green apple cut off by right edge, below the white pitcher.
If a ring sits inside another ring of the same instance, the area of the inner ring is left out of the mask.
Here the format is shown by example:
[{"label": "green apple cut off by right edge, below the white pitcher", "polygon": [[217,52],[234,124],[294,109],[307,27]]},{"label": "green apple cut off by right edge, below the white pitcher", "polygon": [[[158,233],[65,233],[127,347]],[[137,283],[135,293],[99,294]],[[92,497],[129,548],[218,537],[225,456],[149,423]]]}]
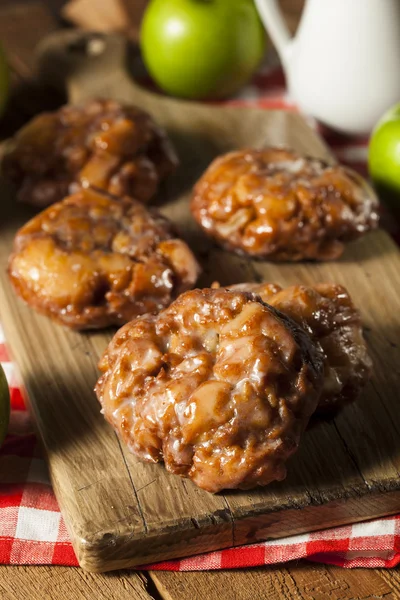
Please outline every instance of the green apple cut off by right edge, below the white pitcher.
[{"label": "green apple cut off by right edge, below the white pitcher", "polygon": [[388,110],[375,126],[368,166],[379,195],[400,211],[400,104]]}]

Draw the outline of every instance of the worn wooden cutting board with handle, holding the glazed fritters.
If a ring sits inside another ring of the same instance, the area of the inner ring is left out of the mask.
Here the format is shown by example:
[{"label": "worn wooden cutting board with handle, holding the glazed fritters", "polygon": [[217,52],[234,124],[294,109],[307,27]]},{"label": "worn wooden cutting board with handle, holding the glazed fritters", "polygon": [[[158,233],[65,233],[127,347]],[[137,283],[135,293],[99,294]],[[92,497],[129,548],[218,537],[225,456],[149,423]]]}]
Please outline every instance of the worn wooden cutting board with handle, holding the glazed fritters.
[{"label": "worn wooden cutting board with handle, holding the glazed fritters", "polygon": [[[118,36],[58,33],[42,47],[42,74],[67,81],[72,102],[115,97],[150,111],[181,158],[160,206],[204,266],[201,285],[268,280],[344,284],[361,309],[374,375],[360,400],[315,423],[284,482],[211,495],[130,455],[100,415],[97,361],[113,332],[68,331],[16,299],[5,273],[16,229],[30,216],[1,184],[0,313],[46,450],[54,489],[81,566],[106,571],[279,538],[400,511],[400,254],[374,232],[333,263],[251,262],[214,247],[190,217],[191,186],[211,159],[243,146],[285,144],[330,159],[295,114],[200,106],[130,81]],[[60,76],[61,75],[61,76]]]}]

